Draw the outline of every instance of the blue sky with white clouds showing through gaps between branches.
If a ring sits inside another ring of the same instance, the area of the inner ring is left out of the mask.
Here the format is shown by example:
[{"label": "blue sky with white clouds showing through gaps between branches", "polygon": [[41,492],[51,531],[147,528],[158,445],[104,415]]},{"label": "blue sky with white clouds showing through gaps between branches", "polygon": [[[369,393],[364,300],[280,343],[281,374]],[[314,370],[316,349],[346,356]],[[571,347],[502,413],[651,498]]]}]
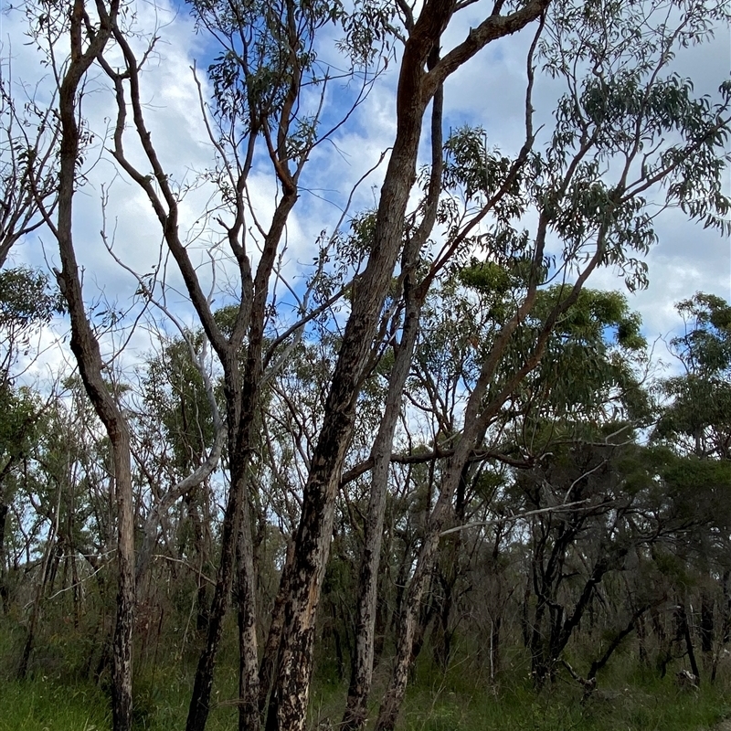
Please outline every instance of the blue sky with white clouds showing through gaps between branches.
[{"label": "blue sky with white clouds showing through gaps between branches", "polygon": [[[476,3],[464,12],[461,25],[450,29],[444,46],[450,48],[478,22],[484,12]],[[199,78],[206,83],[204,72],[211,58],[210,49],[196,36],[193,21],[184,5],[158,2],[138,3],[138,22],[143,28],[158,27],[161,38],[157,55],[151,59],[143,76],[144,101],[148,123],[155,146],[165,168],[178,181],[192,181],[196,171],[204,169],[213,159],[213,150],[198,109],[196,85],[190,67],[194,62]],[[25,45],[23,17],[20,13],[0,16],[2,19],[2,55],[12,54],[16,79],[41,79],[45,69],[38,65],[33,48]],[[328,27],[331,35],[334,30]],[[332,39],[332,38],[331,38]],[[485,49],[480,56],[458,71],[445,91],[445,133],[463,124],[481,125],[488,133],[488,143],[506,153],[514,153],[523,142],[524,58],[530,34],[509,37]],[[321,58],[336,61],[332,48],[322,49]],[[727,30],[715,41],[703,46],[683,49],[675,68],[683,76],[694,79],[699,93],[713,94],[718,84],[729,75],[731,44]],[[395,87],[397,64],[391,63],[387,72],[371,90],[368,99],[355,112],[352,120],[334,134],[332,142],[316,149],[309,168],[302,177],[302,197],[287,232],[287,251],[282,260],[282,274],[296,291],[308,276],[310,262],[316,253],[314,242],[323,229],[332,230],[341,215],[352,186],[365,171],[376,164],[394,137]],[[104,147],[103,132],[109,129],[113,117],[111,96],[106,81],[90,79],[84,113],[97,132],[95,151],[97,162],[90,167],[89,183],[77,196],[77,249],[86,268],[85,291],[90,301],[106,298],[125,307],[137,288],[134,278],[113,260],[101,242],[101,198],[109,195],[106,208],[106,228],[114,234],[115,253],[124,263],[138,272],[147,272],[164,263],[161,237],[149,204],[123,176],[116,175],[111,156]],[[333,80],[326,90],[326,103],[331,117],[336,117],[353,98],[354,87]],[[555,83],[539,79],[535,89],[536,125],[550,123],[556,100]],[[426,155],[424,156],[426,159]],[[378,185],[385,164],[360,186],[355,195],[352,213],[374,207]],[[731,193],[726,189],[727,193]],[[205,186],[191,191],[182,207],[182,227],[190,232],[192,256],[200,264],[202,277],[211,281],[211,247],[221,238],[221,229],[213,224],[201,224],[201,213],[210,199]],[[252,175],[250,185],[252,205],[262,220],[270,217],[276,185],[264,167]],[[667,211],[658,220],[659,243],[652,249],[650,287],[629,294],[630,307],[640,311],[644,331],[652,341],[679,325],[673,303],[688,298],[695,291],[711,291],[731,299],[731,250],[729,242],[713,230],[704,230],[687,222],[679,211]],[[218,249],[213,249],[217,251]],[[37,264],[43,259],[56,262],[54,242],[48,234],[39,233],[16,249],[17,264]],[[168,303],[185,323],[193,323],[180,278],[175,267],[168,267]],[[217,282],[225,282],[230,271],[220,263]],[[595,289],[622,289],[623,281],[610,270],[598,271],[589,280]],[[226,300],[226,287],[217,295],[218,302]],[[282,291],[280,286],[279,291]],[[170,332],[174,327],[166,325]],[[143,351],[148,335],[141,332],[132,346]],[[111,344],[110,344],[111,345]],[[59,354],[60,355],[60,354]],[[662,354],[661,354],[662,355]]]}]

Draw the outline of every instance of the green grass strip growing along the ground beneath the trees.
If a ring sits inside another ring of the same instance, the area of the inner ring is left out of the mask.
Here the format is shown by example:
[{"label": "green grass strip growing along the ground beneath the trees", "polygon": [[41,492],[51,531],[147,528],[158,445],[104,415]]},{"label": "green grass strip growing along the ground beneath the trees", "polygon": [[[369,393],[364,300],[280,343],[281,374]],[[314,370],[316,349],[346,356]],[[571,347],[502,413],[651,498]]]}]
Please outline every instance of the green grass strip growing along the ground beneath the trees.
[{"label": "green grass strip growing along the ground beneath the trees", "polygon": [[[228,663],[226,663],[228,665]],[[207,728],[236,727],[233,666],[217,673]],[[174,663],[154,673],[142,669],[135,682],[135,728],[177,731],[185,726],[190,694],[189,668]],[[322,676],[313,687],[311,727],[336,727],[345,688]],[[376,698],[378,693],[375,693]],[[230,700],[228,700],[230,699]],[[109,701],[91,683],[69,682],[61,673],[35,673],[25,682],[0,683],[0,731],[107,731]],[[375,717],[374,707],[371,717]],[[515,670],[500,688],[480,683],[457,663],[447,673],[418,669],[400,717],[400,731],[705,731],[731,715],[729,679],[704,683],[699,691],[680,690],[668,676],[621,667],[601,678],[599,691],[582,703],[581,691],[565,674],[535,694],[525,674]],[[322,726],[321,726],[322,727]]]}]

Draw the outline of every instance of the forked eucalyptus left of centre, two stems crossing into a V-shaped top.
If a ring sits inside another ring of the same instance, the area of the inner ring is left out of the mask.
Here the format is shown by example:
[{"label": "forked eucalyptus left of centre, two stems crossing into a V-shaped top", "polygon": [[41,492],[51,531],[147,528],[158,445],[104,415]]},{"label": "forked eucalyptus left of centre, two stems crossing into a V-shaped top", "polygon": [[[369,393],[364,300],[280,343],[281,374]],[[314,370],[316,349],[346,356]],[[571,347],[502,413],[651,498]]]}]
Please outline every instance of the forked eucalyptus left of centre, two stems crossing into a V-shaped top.
[{"label": "forked eucalyptus left of centre, two stems crossing into a V-shaped top", "polygon": [[[349,20],[343,8],[336,4],[299,4],[291,0],[274,5],[194,2],[191,10],[198,28],[220,49],[208,69],[213,85],[210,109],[201,96],[201,113],[217,156],[214,169],[207,174],[217,185],[217,205],[214,210],[207,210],[204,217],[208,223],[220,227],[220,238],[234,262],[235,317],[229,328],[217,323],[211,309],[212,297],[204,294],[196,264],[185,246],[185,233],[179,228],[183,207],[178,188],[165,172],[164,161],[147,126],[141,70],[156,38],[151,40],[148,53],[137,57],[127,29],[114,23],[112,35],[122,54],[122,69],[103,57],[100,63],[111,79],[117,101],[112,154],[123,173],[148,197],[162,228],[164,243],[180,270],[196,316],[223,370],[230,488],[207,644],[198,663],[187,720],[187,728],[192,731],[202,729],[207,721],[215,658],[237,560],[241,566],[239,726],[259,726],[254,556],[246,509],[248,470],[257,444],[255,429],[265,366],[281,363],[281,351],[277,348],[282,346],[286,352],[288,340],[296,340],[306,320],[313,317],[307,308],[301,307],[300,316],[305,320],[294,325],[276,321],[271,326],[273,343],[265,343],[272,279],[278,276],[285,226],[300,196],[305,164],[316,144],[329,136],[329,132],[319,128],[331,72],[316,62],[316,38],[323,26],[336,22],[354,38],[351,54],[354,63],[370,65],[375,58],[377,64],[381,57],[371,48],[372,42],[377,47],[377,34],[366,31],[362,37],[364,26]],[[354,72],[346,75],[352,78]],[[353,102],[357,104],[373,78],[369,71],[355,74],[355,78],[361,89]],[[308,114],[303,90],[318,85],[322,89],[319,101],[315,99],[315,111]],[[128,110],[132,112],[131,125]],[[348,114],[344,111],[345,119]],[[339,124],[335,122],[335,127]],[[128,153],[130,138],[132,144],[139,146],[145,167],[139,167]],[[249,204],[249,176],[256,170],[260,157],[269,166],[272,186],[277,190],[269,223],[261,221]],[[148,166],[152,175],[147,174]]]}]

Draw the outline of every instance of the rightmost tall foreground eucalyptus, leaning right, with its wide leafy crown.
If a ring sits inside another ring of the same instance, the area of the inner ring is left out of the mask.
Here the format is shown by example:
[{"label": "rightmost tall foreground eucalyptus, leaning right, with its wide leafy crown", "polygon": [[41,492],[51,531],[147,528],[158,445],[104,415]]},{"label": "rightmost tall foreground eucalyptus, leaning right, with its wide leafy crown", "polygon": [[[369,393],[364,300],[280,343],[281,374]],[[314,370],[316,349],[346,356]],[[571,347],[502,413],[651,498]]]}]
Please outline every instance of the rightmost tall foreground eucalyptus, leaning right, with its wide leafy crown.
[{"label": "rightmost tall foreground eucalyptus, leaning right, with its wide leafy crown", "polygon": [[[690,82],[667,67],[674,48],[689,37],[703,37],[714,20],[726,22],[727,8],[682,5],[674,27],[673,14],[654,5],[560,2],[547,8],[539,48],[546,71],[563,79],[567,92],[557,103],[556,128],[546,152],[529,157],[530,173],[523,178],[526,205],[535,210],[537,223],[525,235],[510,220],[498,225],[488,249],[488,259],[498,262],[506,249],[510,259],[526,260],[525,285],[484,355],[464,409],[460,440],[442,471],[440,495],[400,618],[397,659],[376,723],[379,731],[396,724],[420,600],[464,468],[503,404],[539,363],[552,330],[577,301],[589,274],[614,266],[625,272],[630,286],[645,281],[640,258],[655,240],[645,196],[654,186],[664,186],[666,205],[680,205],[691,217],[726,230],[728,201],[718,172],[724,164],[720,149],[727,138],[728,86],[722,86],[721,101],[714,106],[694,99]],[[530,105],[528,109],[530,115]],[[679,142],[669,142],[671,132]],[[699,176],[701,169],[705,172]],[[557,257],[549,255],[556,250]],[[502,370],[506,348],[534,308],[539,285],[556,278],[564,279],[563,296],[536,329],[518,367]]]}]

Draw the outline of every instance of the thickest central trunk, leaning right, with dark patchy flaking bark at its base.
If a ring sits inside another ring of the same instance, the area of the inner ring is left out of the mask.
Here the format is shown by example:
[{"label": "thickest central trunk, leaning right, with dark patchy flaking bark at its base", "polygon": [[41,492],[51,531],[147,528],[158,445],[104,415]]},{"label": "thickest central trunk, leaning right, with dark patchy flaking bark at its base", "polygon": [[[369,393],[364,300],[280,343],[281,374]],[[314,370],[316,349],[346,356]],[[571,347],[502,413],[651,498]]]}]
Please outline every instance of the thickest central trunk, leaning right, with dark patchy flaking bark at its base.
[{"label": "thickest central trunk, leaning right, with dark patchy flaking bark at its base", "polygon": [[397,138],[381,191],[374,242],[365,271],[355,281],[351,315],[304,487],[273,694],[276,721],[271,723],[280,731],[301,731],[306,720],[315,616],[330,552],[335,495],[353,432],[355,400],[396,266],[408,196],[416,179],[418,141],[427,102],[421,93],[424,65],[450,15],[450,3],[439,0],[434,5],[433,12],[419,16],[404,49],[397,93]]}]

